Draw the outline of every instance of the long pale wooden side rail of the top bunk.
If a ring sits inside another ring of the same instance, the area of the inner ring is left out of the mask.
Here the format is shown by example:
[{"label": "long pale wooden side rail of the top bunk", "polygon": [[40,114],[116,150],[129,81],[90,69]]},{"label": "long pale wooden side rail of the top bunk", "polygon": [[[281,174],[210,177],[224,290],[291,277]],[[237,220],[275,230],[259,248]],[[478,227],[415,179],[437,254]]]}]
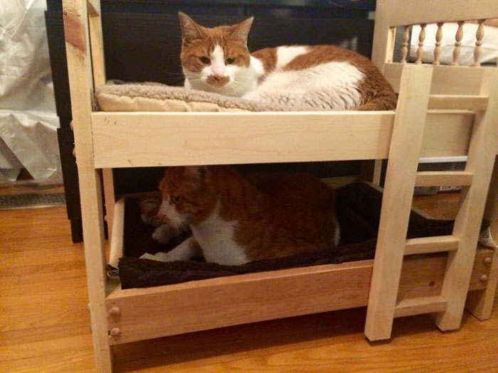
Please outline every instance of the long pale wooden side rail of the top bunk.
[{"label": "long pale wooden side rail of the top bunk", "polygon": [[95,166],[385,158],[393,112],[92,114]]}]

